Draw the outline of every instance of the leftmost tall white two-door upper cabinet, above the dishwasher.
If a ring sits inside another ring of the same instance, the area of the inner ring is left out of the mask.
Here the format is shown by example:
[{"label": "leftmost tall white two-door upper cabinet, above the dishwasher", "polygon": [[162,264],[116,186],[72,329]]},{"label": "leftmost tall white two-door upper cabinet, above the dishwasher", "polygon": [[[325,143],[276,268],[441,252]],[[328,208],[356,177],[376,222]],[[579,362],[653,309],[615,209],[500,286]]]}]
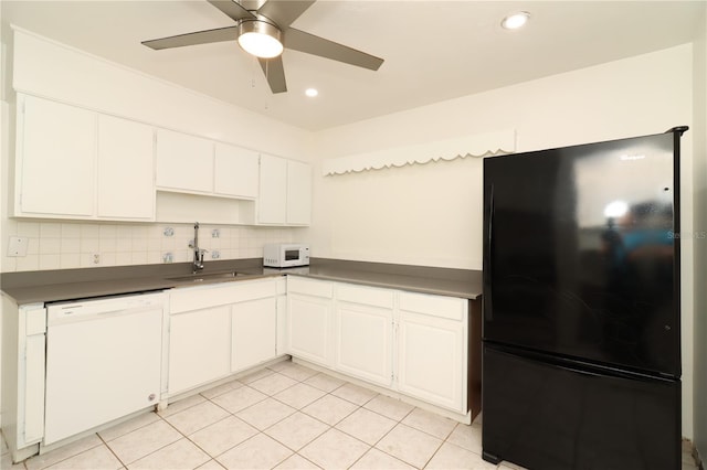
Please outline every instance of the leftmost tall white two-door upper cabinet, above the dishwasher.
[{"label": "leftmost tall white two-door upper cabinet, above the dishwasher", "polygon": [[155,220],[150,126],[18,95],[15,216]]}]

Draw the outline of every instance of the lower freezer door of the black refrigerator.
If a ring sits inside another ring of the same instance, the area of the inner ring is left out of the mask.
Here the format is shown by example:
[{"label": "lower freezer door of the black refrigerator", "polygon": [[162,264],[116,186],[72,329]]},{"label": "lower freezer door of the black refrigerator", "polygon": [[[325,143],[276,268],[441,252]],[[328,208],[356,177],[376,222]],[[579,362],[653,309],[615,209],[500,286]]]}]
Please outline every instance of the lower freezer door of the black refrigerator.
[{"label": "lower freezer door of the black refrigerator", "polygon": [[542,470],[680,468],[680,383],[484,349],[483,450]]}]

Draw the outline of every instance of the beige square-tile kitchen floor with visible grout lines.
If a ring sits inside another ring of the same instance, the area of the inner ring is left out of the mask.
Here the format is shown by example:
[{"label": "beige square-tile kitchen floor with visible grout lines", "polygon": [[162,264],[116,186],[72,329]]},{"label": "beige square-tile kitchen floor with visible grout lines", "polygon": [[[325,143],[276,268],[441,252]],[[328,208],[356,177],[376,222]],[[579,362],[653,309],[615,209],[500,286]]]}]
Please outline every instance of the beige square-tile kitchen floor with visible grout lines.
[{"label": "beige square-tile kitchen floor with visible grout lines", "polygon": [[[293,364],[146,413],[2,469],[519,469],[481,458],[471,426]],[[684,453],[683,469],[695,469]]]}]

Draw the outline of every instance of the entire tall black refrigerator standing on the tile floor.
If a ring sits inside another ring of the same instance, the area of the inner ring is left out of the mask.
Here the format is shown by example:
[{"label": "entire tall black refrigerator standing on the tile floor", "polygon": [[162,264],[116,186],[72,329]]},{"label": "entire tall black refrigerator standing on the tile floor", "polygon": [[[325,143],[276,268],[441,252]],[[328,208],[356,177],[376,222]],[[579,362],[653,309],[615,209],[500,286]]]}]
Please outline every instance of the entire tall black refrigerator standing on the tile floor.
[{"label": "entire tall black refrigerator standing on the tile floor", "polygon": [[484,160],[485,460],[680,468],[685,130]]}]

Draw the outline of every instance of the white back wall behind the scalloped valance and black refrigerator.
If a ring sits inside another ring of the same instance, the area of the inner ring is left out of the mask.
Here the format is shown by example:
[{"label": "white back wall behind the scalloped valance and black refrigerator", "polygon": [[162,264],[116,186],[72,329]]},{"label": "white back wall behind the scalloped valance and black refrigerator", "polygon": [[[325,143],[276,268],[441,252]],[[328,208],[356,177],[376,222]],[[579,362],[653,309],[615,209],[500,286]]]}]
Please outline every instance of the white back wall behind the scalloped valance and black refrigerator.
[{"label": "white back wall behind the scalloped valance and black refrigerator", "polygon": [[[321,160],[515,128],[517,151],[693,127],[685,44],[316,135],[313,256],[482,268],[478,159],[320,177]],[[694,133],[694,132],[693,132]],[[683,231],[693,231],[693,133],[683,139]],[[683,243],[683,331],[693,331],[693,244]],[[693,436],[693,338],[683,335],[683,434]]]}]

